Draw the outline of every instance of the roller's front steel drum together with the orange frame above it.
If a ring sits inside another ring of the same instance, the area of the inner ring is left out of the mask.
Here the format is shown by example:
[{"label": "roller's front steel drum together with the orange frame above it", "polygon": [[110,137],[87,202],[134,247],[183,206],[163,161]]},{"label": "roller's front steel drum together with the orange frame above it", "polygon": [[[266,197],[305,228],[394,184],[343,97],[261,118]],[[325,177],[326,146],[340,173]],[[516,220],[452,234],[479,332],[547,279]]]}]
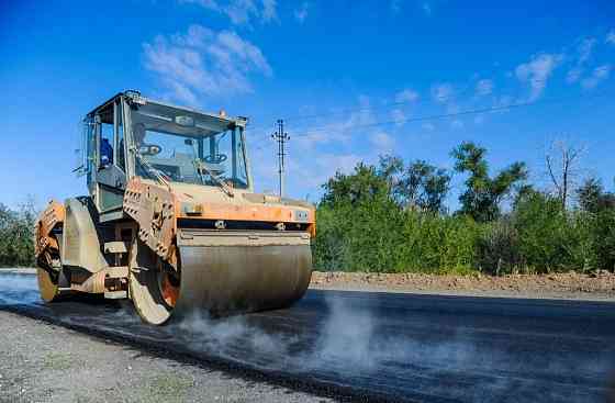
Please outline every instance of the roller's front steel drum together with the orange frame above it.
[{"label": "roller's front steel drum together with the orange frame above it", "polygon": [[[133,245],[128,280],[131,299],[148,323],[163,324],[195,311],[226,314],[283,307],[308,289],[313,209],[288,201],[228,198],[200,186],[164,187],[139,178],[128,182],[123,209],[138,225],[139,245],[155,254]],[[197,227],[178,228],[179,219],[190,219]],[[199,227],[208,220],[217,220],[219,230]],[[280,231],[224,230],[225,221],[248,226],[271,222]],[[301,223],[305,231],[282,231],[284,223]],[[165,299],[168,290],[160,291],[165,264],[180,273],[174,306]]]}]

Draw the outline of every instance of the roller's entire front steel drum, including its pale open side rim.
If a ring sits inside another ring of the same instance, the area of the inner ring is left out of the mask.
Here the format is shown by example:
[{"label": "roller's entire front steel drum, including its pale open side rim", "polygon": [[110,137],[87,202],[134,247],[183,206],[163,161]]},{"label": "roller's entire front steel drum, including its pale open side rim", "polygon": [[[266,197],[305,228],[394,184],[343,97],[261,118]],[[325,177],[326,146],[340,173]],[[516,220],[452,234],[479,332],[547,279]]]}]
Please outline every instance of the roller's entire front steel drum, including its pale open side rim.
[{"label": "roller's entire front steel drum, including its pale open side rim", "polygon": [[234,314],[289,306],[303,296],[312,273],[306,233],[260,234],[180,230],[179,284],[143,243],[133,246],[131,298],[139,316],[160,325],[192,313]]}]

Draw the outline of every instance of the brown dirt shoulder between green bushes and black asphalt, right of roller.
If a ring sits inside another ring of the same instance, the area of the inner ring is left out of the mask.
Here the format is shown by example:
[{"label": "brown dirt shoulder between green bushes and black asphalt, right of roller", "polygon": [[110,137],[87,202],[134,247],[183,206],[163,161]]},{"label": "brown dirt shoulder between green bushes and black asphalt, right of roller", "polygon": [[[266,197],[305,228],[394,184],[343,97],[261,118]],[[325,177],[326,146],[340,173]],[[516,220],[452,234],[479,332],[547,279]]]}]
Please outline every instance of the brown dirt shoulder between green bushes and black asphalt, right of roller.
[{"label": "brown dirt shoulder between green bushes and black asphalt, right of roller", "polygon": [[310,287],[318,290],[615,300],[615,275],[608,271],[502,277],[315,271]]}]

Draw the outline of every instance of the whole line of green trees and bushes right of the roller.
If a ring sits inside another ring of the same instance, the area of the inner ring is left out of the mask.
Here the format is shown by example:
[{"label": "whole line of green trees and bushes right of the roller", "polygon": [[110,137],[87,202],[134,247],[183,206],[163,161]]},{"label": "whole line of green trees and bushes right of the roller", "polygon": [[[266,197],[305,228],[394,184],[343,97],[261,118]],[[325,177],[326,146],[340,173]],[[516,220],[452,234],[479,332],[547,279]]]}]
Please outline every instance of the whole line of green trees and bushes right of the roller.
[{"label": "whole line of green trees and bushes right of the roller", "polygon": [[[337,172],[323,186],[317,204],[315,267],[490,275],[612,271],[615,194],[595,178],[574,187],[579,150],[558,150],[546,158],[552,191],[529,183],[522,161],[492,173],[488,150],[472,142],[451,150],[450,171],[425,160],[383,156],[377,165],[357,165],[349,175]],[[465,177],[455,212],[446,206],[452,175]]]}]

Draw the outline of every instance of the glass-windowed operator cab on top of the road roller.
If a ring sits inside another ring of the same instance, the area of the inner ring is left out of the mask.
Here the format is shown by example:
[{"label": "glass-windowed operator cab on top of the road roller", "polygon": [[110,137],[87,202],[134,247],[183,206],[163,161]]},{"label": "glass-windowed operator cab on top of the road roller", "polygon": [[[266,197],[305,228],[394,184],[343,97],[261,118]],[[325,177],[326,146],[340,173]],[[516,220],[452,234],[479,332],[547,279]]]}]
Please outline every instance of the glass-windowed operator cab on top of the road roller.
[{"label": "glass-windowed operator cab on top of the road roller", "polygon": [[246,123],[145,99],[135,91],[119,93],[83,120],[78,171],[87,176],[90,194],[109,220],[122,214],[126,182],[135,176],[170,186],[250,191]]}]

